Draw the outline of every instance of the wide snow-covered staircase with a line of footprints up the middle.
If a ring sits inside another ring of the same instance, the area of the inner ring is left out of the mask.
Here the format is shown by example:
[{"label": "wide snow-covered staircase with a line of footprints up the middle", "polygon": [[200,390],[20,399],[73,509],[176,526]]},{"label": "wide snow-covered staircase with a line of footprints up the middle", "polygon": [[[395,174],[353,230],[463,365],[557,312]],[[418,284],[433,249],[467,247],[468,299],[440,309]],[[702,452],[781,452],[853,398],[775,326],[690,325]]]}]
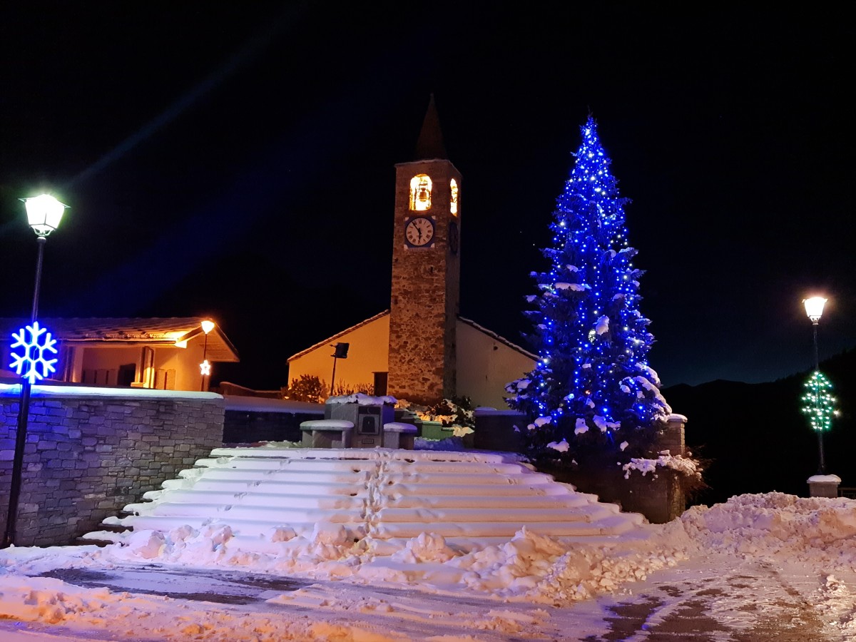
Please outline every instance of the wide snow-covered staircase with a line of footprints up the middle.
[{"label": "wide snow-covered staircase with a line of footprints up the middle", "polygon": [[523,526],[607,542],[644,521],[536,472],[519,455],[486,452],[215,449],[143,500],[105,525],[163,532],[229,525],[242,544],[263,550],[282,529],[309,535],[319,522],[341,525],[354,539],[431,532],[471,546],[507,541]]}]

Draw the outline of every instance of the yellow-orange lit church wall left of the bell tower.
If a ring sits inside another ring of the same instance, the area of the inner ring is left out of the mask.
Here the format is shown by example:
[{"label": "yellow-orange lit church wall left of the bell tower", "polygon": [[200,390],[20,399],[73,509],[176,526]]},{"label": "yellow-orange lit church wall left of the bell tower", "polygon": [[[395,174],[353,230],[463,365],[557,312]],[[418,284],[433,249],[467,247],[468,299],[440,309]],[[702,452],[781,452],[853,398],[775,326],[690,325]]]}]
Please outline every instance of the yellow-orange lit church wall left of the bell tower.
[{"label": "yellow-orange lit church wall left of the bell tower", "polygon": [[336,385],[354,388],[372,384],[375,372],[389,371],[389,314],[348,330],[306,354],[288,361],[288,383],[301,375],[318,377],[330,385],[333,374],[333,348],[336,343],[349,343],[348,359],[336,360]]}]

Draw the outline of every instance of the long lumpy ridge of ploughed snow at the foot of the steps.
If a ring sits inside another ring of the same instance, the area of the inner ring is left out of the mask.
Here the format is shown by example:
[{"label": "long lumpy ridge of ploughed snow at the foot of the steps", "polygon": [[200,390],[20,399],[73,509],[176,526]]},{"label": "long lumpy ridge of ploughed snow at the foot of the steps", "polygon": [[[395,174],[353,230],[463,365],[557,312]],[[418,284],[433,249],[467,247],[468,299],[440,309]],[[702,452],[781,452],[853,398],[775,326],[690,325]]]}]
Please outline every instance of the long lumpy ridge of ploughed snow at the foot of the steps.
[{"label": "long lumpy ridge of ploughed snow at the foot of the steps", "polygon": [[312,536],[283,541],[276,552],[241,550],[229,529],[175,529],[139,532],[124,545],[111,545],[94,556],[108,564],[161,562],[193,567],[252,568],[255,572],[312,579],[419,586],[423,591],[466,587],[510,601],[570,603],[615,591],[628,581],[686,559],[683,546],[662,538],[640,547],[644,539],[609,544],[570,543],[520,529],[504,544],[464,552],[442,535],[423,532],[404,542],[372,538],[353,542],[342,526],[319,525]]}]

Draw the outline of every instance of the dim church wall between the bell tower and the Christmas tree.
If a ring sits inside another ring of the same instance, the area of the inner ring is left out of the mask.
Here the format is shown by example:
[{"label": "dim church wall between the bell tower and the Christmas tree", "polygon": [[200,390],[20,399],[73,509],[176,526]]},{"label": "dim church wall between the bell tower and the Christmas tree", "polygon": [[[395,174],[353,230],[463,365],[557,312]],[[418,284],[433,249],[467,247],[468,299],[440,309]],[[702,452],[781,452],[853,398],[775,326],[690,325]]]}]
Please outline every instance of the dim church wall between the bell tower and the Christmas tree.
[{"label": "dim church wall between the bell tower and the Christmas tree", "polygon": [[532,371],[535,361],[462,321],[457,341],[458,395],[470,397],[475,406],[508,407],[505,384]]}]

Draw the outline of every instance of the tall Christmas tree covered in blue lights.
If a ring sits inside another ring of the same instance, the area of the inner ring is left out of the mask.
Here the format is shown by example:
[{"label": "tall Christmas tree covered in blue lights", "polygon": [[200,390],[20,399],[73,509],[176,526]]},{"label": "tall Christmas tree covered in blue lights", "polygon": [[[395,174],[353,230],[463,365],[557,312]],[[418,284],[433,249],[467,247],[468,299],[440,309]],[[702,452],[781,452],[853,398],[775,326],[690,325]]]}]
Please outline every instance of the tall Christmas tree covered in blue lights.
[{"label": "tall Christmas tree covered in blue lights", "polygon": [[639,312],[643,271],[627,242],[629,200],[619,196],[591,116],[581,130],[550,224],[553,245],[542,251],[550,269],[532,272],[538,293],[527,297],[538,362],[508,384],[508,405],[532,419],[531,454],[550,446],[568,460],[601,455],[614,466],[650,455],[654,427],[671,409],[647,363],[654,337]]}]

